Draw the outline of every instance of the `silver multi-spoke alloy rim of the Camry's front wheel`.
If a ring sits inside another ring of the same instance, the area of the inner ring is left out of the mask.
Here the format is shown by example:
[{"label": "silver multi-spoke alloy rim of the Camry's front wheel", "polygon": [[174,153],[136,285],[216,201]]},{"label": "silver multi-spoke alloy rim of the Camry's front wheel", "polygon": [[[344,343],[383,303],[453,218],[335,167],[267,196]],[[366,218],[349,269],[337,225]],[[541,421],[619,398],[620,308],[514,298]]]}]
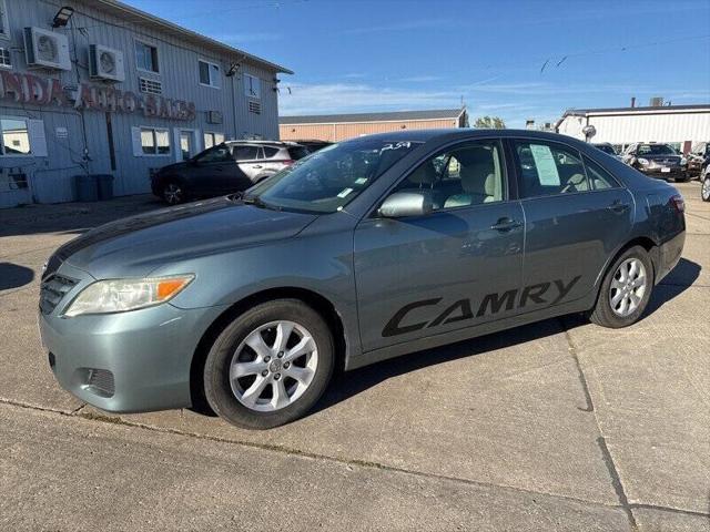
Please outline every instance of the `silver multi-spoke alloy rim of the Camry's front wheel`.
[{"label": "silver multi-spoke alloy rim of the Camry's front wheel", "polygon": [[281,410],[308,389],[318,365],[313,335],[294,321],[272,321],[240,344],[230,365],[234,397],[251,410]]}]

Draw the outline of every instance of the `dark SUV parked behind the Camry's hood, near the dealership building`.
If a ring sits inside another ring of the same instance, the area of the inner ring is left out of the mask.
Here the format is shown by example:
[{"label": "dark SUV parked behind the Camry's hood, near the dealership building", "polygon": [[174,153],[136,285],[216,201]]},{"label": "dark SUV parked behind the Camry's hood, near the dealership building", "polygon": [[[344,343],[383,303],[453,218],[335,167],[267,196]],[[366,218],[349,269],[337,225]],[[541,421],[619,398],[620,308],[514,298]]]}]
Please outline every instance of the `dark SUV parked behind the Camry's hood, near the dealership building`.
[{"label": "dark SUV parked behind the Camry's hood, near the dealership building", "polygon": [[163,166],[151,176],[151,190],[170,205],[242,192],[307,154],[308,149],[294,142],[223,142],[185,162]]}]

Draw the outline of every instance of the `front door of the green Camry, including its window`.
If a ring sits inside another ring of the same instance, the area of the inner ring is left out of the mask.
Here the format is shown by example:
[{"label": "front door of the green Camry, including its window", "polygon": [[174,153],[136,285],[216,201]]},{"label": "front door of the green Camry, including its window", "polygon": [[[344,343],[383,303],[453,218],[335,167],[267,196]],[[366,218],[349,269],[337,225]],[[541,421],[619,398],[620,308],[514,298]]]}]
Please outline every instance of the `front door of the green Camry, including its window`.
[{"label": "front door of the green Camry, including its window", "polygon": [[365,351],[517,314],[523,208],[508,200],[498,141],[458,144],[394,191],[426,191],[434,212],[367,217],[355,229]]}]

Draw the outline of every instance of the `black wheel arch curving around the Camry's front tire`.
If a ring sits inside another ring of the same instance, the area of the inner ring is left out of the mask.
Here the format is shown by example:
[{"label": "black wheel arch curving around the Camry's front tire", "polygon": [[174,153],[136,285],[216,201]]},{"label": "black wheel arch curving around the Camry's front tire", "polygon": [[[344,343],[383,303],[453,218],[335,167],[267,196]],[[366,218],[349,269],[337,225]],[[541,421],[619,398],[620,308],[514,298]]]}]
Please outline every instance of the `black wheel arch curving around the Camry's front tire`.
[{"label": "black wheel arch curving around the Camry's front tire", "polygon": [[251,294],[230,306],[207,327],[200,338],[190,364],[190,397],[194,409],[206,410],[207,412],[211,410],[204,396],[203,371],[207,354],[216,338],[237,316],[256,305],[274,299],[297,299],[317,311],[325,319],[333,334],[333,340],[335,341],[335,370],[342,371],[344,369],[347,341],[343,318],[333,303],[323,295],[307,288],[278,287],[264,289]]}]

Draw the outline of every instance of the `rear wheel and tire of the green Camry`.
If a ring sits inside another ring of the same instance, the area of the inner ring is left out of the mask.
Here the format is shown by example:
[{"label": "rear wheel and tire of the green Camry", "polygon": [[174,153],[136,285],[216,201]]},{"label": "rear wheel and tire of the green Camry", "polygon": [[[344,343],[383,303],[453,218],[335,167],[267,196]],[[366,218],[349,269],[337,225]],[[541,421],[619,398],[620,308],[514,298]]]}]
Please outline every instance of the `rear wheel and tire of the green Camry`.
[{"label": "rear wheel and tire of the green Camry", "polygon": [[[631,269],[633,265],[636,270]],[[629,279],[626,283],[625,273],[626,278]],[[643,282],[635,287],[632,282],[641,277],[639,274],[642,274]],[[625,295],[623,290],[628,295]],[[633,246],[619,255],[607,270],[597,304],[589,319],[602,327],[613,329],[628,327],[641,317],[652,291],[653,265],[651,259],[646,249],[641,246]],[[620,299],[617,300],[617,296],[620,296]],[[625,305],[627,306],[625,307]]]}]

